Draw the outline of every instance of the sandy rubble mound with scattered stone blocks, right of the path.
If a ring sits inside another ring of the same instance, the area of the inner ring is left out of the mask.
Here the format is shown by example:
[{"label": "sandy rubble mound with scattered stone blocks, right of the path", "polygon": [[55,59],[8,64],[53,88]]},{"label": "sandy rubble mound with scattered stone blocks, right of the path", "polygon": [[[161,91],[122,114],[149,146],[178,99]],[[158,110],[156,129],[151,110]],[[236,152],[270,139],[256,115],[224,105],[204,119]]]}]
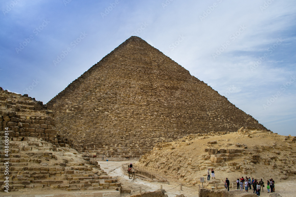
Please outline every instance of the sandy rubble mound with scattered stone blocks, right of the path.
[{"label": "sandy rubble mound with scattered stone blocks, right of the path", "polygon": [[[187,185],[206,180],[207,169],[214,169],[216,179],[205,186],[235,181],[242,176],[294,179],[296,174],[296,137],[271,131],[242,127],[234,133],[191,134],[174,142],[158,143],[135,166],[158,173]],[[210,184],[210,185],[208,185]]]}]

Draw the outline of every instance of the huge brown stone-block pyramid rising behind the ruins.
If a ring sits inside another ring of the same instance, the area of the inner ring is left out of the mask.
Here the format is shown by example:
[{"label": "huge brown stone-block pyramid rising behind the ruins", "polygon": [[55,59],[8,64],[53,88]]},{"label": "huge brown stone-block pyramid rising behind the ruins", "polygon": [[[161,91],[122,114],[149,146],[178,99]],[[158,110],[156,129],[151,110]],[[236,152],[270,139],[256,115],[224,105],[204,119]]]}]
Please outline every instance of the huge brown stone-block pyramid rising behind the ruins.
[{"label": "huge brown stone-block pyramid rising behind the ruins", "polygon": [[206,83],[132,36],[46,104],[80,152],[140,157],[192,133],[266,130]]}]

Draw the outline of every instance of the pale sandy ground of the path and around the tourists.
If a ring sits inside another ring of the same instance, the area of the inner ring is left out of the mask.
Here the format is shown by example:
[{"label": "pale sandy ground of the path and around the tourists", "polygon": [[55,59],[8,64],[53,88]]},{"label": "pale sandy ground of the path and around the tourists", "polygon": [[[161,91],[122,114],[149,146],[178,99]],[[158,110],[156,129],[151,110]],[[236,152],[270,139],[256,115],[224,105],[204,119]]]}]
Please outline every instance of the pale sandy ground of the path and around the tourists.
[{"label": "pale sandy ground of the path and around the tourists", "polygon": [[[118,179],[118,181],[121,183],[122,188],[124,189],[131,189],[131,194],[122,194],[121,196],[130,196],[132,194],[138,194],[139,193],[139,186],[142,187],[142,192],[144,191],[155,191],[157,189],[160,189],[160,185],[163,186],[163,189],[165,189],[169,197],[174,197],[177,194],[184,194],[187,197],[194,197],[198,196],[198,187],[185,187],[183,185],[183,191],[180,191],[179,183],[170,181],[170,184],[166,183],[158,183],[158,182],[148,182],[141,180],[139,178],[136,178],[135,180],[131,180],[128,178],[128,175],[125,175],[121,165],[126,163],[135,163],[135,160],[132,161],[123,161],[123,162],[111,162],[111,161],[102,161],[98,162],[101,166],[101,169],[104,170],[108,175],[115,177]],[[135,188],[135,189],[132,189]],[[174,189],[173,189],[174,188]],[[283,181],[276,184],[276,193],[279,193],[282,197],[293,197],[296,196],[295,194],[295,188],[296,188],[296,182],[295,181]],[[170,190],[171,189],[171,190]],[[168,191],[170,190],[170,191]],[[230,190],[232,190],[230,188]],[[241,193],[240,191],[234,191],[236,194]],[[249,193],[252,193],[253,190],[250,190]],[[260,193],[260,196],[269,196],[267,193],[266,188],[264,188],[264,192]]]}]

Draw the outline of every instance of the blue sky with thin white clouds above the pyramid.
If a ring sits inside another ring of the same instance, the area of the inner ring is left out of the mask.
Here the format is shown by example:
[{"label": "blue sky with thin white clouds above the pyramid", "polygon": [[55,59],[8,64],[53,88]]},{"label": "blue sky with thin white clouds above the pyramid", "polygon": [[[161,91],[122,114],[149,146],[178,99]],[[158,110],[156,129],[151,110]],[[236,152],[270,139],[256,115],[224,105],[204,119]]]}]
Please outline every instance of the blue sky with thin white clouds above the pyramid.
[{"label": "blue sky with thin white clouds above the pyramid", "polygon": [[296,135],[296,1],[0,2],[0,86],[48,102],[137,35],[266,128]]}]

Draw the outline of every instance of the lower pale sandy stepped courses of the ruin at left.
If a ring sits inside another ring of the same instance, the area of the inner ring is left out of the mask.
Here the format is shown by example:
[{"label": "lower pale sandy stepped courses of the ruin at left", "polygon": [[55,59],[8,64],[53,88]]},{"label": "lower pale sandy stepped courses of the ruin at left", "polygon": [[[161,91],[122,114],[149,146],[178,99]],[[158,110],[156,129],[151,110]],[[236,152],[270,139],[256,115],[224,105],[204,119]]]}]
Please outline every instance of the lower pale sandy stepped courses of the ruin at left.
[{"label": "lower pale sandy stepped courses of the ruin at left", "polygon": [[[3,133],[0,134],[3,136]],[[67,191],[120,187],[117,179],[102,174],[99,166],[90,165],[90,162],[83,160],[83,155],[80,155],[80,162],[69,159],[77,156],[76,152],[69,152],[69,148],[53,148],[51,143],[34,137],[24,137],[22,140],[9,143],[10,191],[48,187]],[[7,158],[4,151],[0,153],[1,158]],[[4,170],[5,167],[1,167],[1,171]],[[2,180],[3,176],[1,173]],[[3,185],[3,181],[0,181],[0,185]]]}]

